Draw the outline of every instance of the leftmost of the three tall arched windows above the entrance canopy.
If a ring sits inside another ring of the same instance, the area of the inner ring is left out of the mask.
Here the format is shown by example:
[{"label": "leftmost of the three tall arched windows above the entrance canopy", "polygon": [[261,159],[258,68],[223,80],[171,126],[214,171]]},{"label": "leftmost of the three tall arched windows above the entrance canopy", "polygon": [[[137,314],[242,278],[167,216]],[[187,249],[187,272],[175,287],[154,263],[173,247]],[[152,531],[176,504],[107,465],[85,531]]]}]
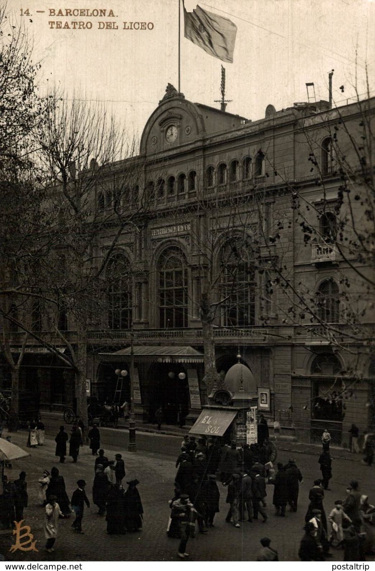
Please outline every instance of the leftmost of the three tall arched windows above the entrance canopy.
[{"label": "leftmost of the three tall arched windows above the entrance canopy", "polygon": [[123,254],[117,254],[107,266],[108,327],[129,329],[132,322],[131,267]]}]

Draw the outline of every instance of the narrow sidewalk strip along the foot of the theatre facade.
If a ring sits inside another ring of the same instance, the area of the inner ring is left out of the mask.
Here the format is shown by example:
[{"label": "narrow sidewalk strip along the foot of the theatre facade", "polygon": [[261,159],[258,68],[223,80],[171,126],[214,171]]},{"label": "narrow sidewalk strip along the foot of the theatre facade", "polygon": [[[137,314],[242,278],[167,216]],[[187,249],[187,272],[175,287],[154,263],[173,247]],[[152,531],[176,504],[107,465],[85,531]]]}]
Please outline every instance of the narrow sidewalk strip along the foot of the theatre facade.
[{"label": "narrow sidewalk strip along the foot of the theatre facade", "polygon": [[[63,413],[62,412],[49,412],[49,411],[42,411],[43,419],[54,419],[59,420],[63,423]],[[118,428],[113,428],[111,426],[107,427],[108,429],[112,429],[115,432],[119,431],[127,431],[129,428],[128,422],[123,418],[119,419]],[[181,439],[184,435],[186,435],[189,431],[188,428],[179,428],[175,425],[164,424],[160,431],[156,428],[156,424],[140,424],[137,423],[136,431],[142,433],[152,433],[154,435],[167,435],[167,436],[180,436]],[[291,456],[293,454],[309,454],[312,456],[318,457],[322,451],[321,445],[318,444],[307,444],[303,442],[295,442],[291,440],[283,440],[281,437],[280,439],[276,440],[271,437],[271,440],[276,442],[276,447],[278,451],[288,452]],[[333,459],[340,459],[340,460],[349,460],[352,462],[360,463],[362,460],[361,454],[352,454],[345,448],[340,447],[330,447],[330,453]]]}]

